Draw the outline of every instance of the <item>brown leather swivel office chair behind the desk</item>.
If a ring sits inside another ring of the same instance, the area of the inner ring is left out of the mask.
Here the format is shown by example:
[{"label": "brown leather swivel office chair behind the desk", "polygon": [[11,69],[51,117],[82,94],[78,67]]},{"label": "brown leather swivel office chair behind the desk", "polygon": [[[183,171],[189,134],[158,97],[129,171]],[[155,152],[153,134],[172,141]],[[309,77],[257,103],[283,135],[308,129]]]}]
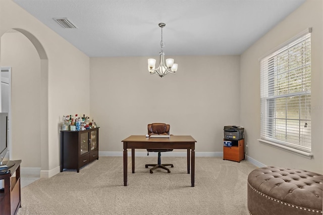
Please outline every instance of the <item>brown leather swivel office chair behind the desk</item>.
[{"label": "brown leather swivel office chair behind the desk", "polygon": [[[169,135],[170,134],[170,125],[165,124],[165,123],[148,124],[148,135],[150,136],[152,134]],[[146,164],[145,165],[146,168],[153,167],[150,169],[150,173],[153,173],[152,171],[157,168],[167,170],[168,173],[171,172],[167,167],[169,167],[169,166],[174,167],[174,165],[173,164],[161,164],[160,152],[173,151],[173,149],[147,149],[147,151],[148,151],[148,154],[149,154],[149,152],[158,152],[157,164]]]}]

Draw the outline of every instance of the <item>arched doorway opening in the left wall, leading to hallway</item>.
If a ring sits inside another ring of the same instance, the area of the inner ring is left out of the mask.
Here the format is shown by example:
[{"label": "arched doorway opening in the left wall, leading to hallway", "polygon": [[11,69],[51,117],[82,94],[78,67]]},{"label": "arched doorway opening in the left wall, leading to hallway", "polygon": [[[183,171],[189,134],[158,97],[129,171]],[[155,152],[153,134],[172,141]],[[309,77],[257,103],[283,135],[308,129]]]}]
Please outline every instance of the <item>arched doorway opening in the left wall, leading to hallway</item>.
[{"label": "arched doorway opening in the left wall, leading to hallway", "polygon": [[49,166],[46,52],[24,29],[7,31],[1,35],[1,42],[0,66],[12,68],[10,159],[22,159],[22,168],[36,168],[41,173]]}]

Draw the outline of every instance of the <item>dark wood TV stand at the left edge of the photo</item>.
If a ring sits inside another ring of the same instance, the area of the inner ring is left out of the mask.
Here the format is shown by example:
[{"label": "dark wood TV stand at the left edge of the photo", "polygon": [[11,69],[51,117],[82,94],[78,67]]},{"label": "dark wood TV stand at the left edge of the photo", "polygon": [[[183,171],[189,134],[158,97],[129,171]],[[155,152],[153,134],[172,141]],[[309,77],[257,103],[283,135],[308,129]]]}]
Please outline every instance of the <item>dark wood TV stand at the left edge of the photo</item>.
[{"label": "dark wood TV stand at the left edge of the photo", "polygon": [[17,214],[21,206],[20,164],[21,160],[14,160],[15,165],[9,168],[10,173],[0,175],[5,187],[0,190],[0,214]]}]

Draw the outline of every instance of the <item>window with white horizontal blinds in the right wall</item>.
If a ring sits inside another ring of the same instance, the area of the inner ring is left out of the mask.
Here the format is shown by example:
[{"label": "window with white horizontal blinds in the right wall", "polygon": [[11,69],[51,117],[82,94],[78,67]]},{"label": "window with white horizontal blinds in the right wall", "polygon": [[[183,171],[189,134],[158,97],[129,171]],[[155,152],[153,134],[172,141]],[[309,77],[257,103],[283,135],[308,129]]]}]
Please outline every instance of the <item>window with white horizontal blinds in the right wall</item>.
[{"label": "window with white horizontal blinds in the right wall", "polygon": [[311,152],[311,29],[260,60],[260,139]]}]

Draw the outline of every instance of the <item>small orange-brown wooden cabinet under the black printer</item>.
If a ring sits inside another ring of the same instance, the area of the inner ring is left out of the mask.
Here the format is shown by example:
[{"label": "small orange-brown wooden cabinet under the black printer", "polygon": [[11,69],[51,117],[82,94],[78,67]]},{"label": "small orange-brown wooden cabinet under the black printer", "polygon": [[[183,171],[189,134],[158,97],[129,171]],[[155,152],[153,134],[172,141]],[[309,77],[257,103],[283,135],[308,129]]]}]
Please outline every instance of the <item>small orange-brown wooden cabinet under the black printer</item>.
[{"label": "small orange-brown wooden cabinet under the black printer", "polygon": [[232,141],[231,147],[223,146],[223,159],[240,163],[241,160],[244,160],[244,139],[230,141]]}]

